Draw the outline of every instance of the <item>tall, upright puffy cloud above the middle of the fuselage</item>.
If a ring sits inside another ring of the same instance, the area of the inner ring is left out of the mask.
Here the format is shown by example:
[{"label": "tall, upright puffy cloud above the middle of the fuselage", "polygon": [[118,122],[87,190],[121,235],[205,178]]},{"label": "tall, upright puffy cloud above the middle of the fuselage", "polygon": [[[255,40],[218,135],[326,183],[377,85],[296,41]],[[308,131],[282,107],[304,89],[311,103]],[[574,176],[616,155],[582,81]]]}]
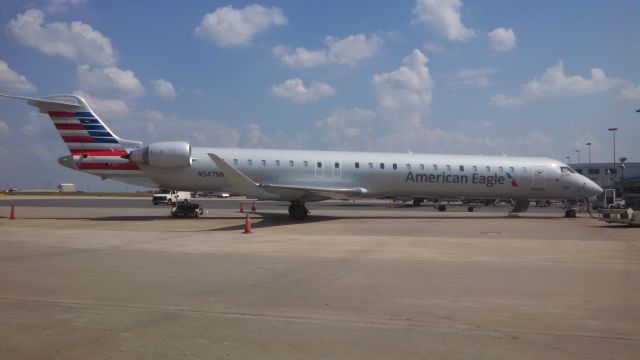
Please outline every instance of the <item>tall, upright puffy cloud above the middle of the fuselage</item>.
[{"label": "tall, upright puffy cloud above the middle of the fuselage", "polygon": [[392,72],[373,75],[379,106],[390,115],[394,126],[419,127],[422,113],[431,104],[434,82],[427,56],[415,49]]}]

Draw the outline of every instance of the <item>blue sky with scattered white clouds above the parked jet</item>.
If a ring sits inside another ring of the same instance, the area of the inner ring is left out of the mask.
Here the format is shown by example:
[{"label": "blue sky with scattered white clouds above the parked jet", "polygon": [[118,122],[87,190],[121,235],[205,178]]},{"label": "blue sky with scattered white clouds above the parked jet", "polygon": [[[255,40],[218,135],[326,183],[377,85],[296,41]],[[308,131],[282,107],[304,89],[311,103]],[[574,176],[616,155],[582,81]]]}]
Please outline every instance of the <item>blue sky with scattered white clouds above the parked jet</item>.
[{"label": "blue sky with scattered white clouds above the parked jet", "polygon": [[[639,1],[0,4],[0,92],[84,95],[121,137],[195,146],[640,161]],[[134,187],[57,165],[0,102],[0,187]]]}]

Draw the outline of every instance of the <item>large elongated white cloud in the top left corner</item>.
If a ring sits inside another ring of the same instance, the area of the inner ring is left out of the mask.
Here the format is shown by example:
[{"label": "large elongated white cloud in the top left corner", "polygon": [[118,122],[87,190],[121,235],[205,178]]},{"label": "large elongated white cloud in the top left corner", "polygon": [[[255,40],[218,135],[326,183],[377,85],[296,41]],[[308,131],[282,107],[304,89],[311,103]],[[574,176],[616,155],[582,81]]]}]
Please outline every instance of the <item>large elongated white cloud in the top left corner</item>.
[{"label": "large elongated white cloud in the top left corner", "polygon": [[111,40],[81,21],[45,23],[42,11],[29,9],[7,29],[18,42],[47,55],[106,66],[116,63]]}]

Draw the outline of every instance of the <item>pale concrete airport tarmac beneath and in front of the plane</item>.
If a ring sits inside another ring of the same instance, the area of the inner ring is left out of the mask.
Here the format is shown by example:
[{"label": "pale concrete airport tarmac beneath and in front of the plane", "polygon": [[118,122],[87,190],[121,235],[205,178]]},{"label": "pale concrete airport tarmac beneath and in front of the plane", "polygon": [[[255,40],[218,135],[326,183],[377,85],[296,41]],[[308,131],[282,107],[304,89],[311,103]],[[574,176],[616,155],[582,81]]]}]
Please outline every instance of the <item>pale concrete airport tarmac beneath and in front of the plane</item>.
[{"label": "pale concrete airport tarmac beneath and in front of the plane", "polygon": [[0,200],[0,359],[640,357],[640,228],[586,214],[34,201]]}]

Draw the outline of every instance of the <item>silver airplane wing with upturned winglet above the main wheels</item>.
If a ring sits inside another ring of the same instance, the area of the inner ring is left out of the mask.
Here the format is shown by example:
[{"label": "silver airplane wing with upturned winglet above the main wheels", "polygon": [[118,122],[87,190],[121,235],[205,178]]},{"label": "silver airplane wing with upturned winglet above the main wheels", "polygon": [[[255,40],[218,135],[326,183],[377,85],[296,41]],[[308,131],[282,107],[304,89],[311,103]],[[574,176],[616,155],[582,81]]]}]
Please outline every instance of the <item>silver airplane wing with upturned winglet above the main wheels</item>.
[{"label": "silver airplane wing with upturned winglet above the main wheels", "polygon": [[257,183],[229,165],[216,154],[208,154],[218,168],[225,173],[230,186],[225,190],[273,200],[319,201],[327,199],[352,199],[366,194],[361,187],[316,187],[289,184]]}]

